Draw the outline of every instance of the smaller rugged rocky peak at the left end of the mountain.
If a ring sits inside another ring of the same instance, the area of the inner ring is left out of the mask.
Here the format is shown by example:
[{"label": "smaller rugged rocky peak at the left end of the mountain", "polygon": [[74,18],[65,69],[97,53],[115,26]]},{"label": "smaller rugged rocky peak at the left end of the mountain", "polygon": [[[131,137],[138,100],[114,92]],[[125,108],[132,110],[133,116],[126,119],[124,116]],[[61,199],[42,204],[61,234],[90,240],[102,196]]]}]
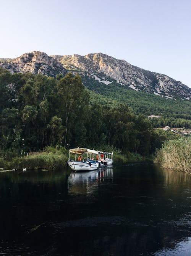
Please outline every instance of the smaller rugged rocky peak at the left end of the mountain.
[{"label": "smaller rugged rocky peak at the left end of the mountain", "polygon": [[0,59],[0,66],[8,69],[11,73],[30,72],[49,76],[65,73],[65,69],[60,62],[40,51],[24,53],[15,59]]}]

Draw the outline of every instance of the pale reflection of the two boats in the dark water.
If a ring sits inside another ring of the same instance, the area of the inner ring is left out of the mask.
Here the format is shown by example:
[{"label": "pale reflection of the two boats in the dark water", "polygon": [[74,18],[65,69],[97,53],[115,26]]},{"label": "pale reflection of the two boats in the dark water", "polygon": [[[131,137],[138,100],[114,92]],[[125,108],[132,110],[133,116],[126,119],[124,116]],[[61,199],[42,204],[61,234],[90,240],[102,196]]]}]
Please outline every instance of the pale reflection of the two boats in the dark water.
[{"label": "pale reflection of the two boats in the dark water", "polygon": [[113,180],[113,168],[105,167],[89,172],[71,172],[68,177],[69,194],[91,194],[104,180]]}]

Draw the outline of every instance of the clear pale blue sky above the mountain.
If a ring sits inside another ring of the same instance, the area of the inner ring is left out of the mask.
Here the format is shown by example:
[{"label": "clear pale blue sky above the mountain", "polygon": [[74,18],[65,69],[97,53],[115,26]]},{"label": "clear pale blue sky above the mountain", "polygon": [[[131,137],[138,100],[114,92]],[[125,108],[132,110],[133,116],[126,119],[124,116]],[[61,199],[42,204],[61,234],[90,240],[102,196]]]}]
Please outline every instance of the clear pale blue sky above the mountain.
[{"label": "clear pale blue sky above the mountain", "polygon": [[0,58],[106,53],[191,87],[191,0],[0,0]]}]

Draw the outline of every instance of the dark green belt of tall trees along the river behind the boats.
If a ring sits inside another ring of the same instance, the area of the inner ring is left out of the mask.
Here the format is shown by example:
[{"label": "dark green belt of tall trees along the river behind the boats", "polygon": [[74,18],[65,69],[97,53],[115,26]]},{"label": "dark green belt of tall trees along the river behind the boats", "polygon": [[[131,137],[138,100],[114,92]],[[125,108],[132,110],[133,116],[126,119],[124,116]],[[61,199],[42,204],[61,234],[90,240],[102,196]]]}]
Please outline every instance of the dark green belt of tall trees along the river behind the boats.
[{"label": "dark green belt of tall trees along the river behind the boats", "polygon": [[[107,87],[104,90],[107,96]],[[90,102],[89,92],[79,74],[59,74],[54,79],[42,74],[11,74],[0,68],[1,150],[24,154],[47,145],[109,145],[123,153],[148,155],[160,147],[164,138],[141,111],[136,115],[127,104],[113,104],[116,91],[110,90],[108,95],[111,104],[106,104],[106,98],[100,104],[101,97],[98,101],[92,97]]]}]

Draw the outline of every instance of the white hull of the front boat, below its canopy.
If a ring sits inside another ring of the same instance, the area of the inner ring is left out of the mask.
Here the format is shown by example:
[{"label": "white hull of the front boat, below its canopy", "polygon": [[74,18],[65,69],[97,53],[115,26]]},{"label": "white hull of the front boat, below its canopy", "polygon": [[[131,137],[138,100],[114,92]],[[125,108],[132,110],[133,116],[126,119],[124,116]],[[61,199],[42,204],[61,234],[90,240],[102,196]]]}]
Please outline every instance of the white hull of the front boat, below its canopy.
[{"label": "white hull of the front boat, below its canopy", "polygon": [[99,167],[98,163],[81,162],[81,161],[68,161],[68,165],[72,170],[76,171],[90,171]]}]

